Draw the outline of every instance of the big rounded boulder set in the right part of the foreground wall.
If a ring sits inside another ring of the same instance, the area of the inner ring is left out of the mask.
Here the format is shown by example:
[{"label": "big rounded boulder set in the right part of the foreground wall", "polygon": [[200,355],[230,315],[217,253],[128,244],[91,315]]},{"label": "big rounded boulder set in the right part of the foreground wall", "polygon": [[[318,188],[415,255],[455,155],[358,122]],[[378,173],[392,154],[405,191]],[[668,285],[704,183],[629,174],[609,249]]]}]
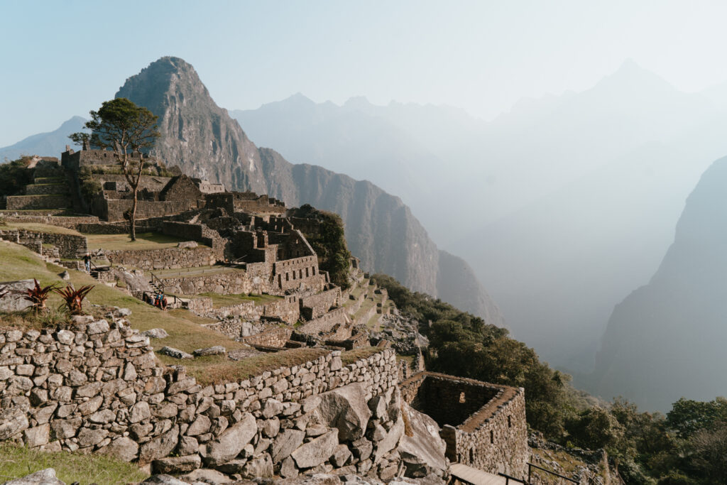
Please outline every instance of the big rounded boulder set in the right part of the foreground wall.
[{"label": "big rounded boulder set in the right part of the foreground wall", "polygon": [[340,441],[353,441],[366,432],[371,410],[366,404],[366,392],[355,382],[322,393],[318,412],[324,424],[338,429]]}]

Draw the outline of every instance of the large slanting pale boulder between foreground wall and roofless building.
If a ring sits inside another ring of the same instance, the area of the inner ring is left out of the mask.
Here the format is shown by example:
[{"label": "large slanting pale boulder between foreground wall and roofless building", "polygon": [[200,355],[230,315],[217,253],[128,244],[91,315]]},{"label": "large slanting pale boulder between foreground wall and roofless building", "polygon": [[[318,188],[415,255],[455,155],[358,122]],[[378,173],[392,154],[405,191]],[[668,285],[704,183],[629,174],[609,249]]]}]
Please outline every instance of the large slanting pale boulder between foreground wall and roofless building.
[{"label": "large slanting pale boulder between foreground wall and roofless building", "polygon": [[403,403],[402,411],[409,422],[409,434],[399,441],[398,452],[406,466],[405,475],[422,478],[427,475],[443,476],[447,469],[447,445],[439,437],[439,425],[427,414]]}]

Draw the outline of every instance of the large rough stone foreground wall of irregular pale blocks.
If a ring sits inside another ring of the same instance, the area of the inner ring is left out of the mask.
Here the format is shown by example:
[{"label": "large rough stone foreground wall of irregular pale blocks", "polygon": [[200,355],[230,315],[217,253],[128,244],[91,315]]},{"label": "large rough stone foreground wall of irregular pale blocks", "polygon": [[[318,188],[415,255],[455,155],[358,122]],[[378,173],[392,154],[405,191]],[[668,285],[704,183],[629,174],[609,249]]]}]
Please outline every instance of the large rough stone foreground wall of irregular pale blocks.
[{"label": "large rough stone foreground wall of irregular pale blocks", "polygon": [[[204,386],[182,366],[160,366],[148,337],[114,319],[0,329],[1,441],[113,454],[161,473],[205,466],[253,478],[347,465],[393,476],[401,468],[391,350],[347,366],[334,351]],[[368,439],[377,423],[386,428]]]}]

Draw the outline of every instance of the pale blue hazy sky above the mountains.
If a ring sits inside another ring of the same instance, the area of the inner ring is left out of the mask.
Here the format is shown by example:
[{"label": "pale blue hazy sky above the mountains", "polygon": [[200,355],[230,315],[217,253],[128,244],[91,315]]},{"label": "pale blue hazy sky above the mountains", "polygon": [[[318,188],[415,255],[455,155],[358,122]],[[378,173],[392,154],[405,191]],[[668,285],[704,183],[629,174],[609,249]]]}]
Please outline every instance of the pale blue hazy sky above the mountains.
[{"label": "pale blue hazy sky above the mountains", "polygon": [[489,119],[634,59],[676,87],[727,80],[724,1],[0,0],[0,146],[87,116],[163,55],[219,105],[302,92]]}]

